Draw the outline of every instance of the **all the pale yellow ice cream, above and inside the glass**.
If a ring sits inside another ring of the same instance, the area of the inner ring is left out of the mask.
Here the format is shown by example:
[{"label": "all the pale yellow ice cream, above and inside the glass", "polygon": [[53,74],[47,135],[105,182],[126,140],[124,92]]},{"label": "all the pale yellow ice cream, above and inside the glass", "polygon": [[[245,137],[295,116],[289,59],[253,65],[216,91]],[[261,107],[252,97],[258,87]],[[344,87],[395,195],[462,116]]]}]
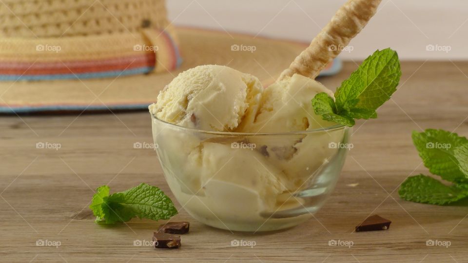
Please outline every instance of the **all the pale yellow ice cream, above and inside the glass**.
[{"label": "all the pale yellow ice cream, above and inside the glass", "polygon": [[[158,156],[177,200],[202,222],[221,228],[227,226],[218,221],[239,222],[233,230],[268,230],[262,214],[302,207],[292,194],[311,185],[337,153],[330,143],[343,140],[343,130],[306,133],[335,124],[313,112],[312,98],[320,92],[333,96],[301,75],[263,89],[254,76],[225,66],[179,74],[150,111],[159,120],[207,132],[153,121]],[[288,132],[297,133],[256,135]]]}]

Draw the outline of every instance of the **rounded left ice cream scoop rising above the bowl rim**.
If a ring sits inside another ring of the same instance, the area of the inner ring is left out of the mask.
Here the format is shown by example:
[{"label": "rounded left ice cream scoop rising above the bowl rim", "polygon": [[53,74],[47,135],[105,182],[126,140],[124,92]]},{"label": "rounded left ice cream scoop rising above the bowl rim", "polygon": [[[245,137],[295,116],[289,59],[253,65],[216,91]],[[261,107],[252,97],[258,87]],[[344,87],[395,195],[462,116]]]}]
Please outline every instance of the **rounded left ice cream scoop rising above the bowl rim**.
[{"label": "rounded left ice cream scoop rising above the bowl rim", "polygon": [[263,86],[252,75],[219,65],[203,65],[180,73],[150,111],[163,121],[208,131],[232,131],[252,120]]}]

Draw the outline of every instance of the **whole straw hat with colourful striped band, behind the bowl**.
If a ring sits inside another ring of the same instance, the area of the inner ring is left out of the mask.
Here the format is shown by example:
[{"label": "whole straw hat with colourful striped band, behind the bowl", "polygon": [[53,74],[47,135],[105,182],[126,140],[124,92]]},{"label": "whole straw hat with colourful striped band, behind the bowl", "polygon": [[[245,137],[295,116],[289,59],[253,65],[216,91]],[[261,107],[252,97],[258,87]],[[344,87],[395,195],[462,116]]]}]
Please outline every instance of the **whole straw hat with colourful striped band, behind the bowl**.
[{"label": "whole straw hat with colourful striped band, behind the bowl", "polygon": [[146,109],[179,72],[229,65],[272,82],[304,45],[174,28],[164,0],[2,0],[0,113]]}]

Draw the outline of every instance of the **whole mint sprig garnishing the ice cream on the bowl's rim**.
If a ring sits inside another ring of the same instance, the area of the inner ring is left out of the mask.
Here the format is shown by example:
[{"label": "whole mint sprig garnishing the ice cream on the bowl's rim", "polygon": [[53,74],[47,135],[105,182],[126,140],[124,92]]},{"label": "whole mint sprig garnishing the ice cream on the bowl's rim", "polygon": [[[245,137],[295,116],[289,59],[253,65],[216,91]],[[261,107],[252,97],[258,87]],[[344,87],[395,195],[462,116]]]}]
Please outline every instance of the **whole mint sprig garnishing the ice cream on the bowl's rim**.
[{"label": "whole mint sprig garnishing the ice cream on the bowl's rim", "polygon": [[312,99],[312,107],[325,121],[353,126],[354,119],[377,118],[376,110],[390,99],[400,81],[398,54],[377,50],[336,89],[335,101],[326,93]]}]

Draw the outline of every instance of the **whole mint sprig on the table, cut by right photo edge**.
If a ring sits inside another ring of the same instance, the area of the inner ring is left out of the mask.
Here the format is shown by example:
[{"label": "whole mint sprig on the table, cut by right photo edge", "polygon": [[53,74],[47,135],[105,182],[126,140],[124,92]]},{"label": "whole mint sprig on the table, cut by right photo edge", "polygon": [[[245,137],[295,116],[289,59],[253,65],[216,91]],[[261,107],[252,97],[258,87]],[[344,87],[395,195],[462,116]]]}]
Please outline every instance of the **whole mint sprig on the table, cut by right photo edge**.
[{"label": "whole mint sprig on the table, cut by right photo edge", "polygon": [[425,175],[411,176],[398,190],[407,201],[450,204],[468,197],[468,140],[456,133],[427,129],[412,133],[413,143],[429,171],[451,185]]}]

